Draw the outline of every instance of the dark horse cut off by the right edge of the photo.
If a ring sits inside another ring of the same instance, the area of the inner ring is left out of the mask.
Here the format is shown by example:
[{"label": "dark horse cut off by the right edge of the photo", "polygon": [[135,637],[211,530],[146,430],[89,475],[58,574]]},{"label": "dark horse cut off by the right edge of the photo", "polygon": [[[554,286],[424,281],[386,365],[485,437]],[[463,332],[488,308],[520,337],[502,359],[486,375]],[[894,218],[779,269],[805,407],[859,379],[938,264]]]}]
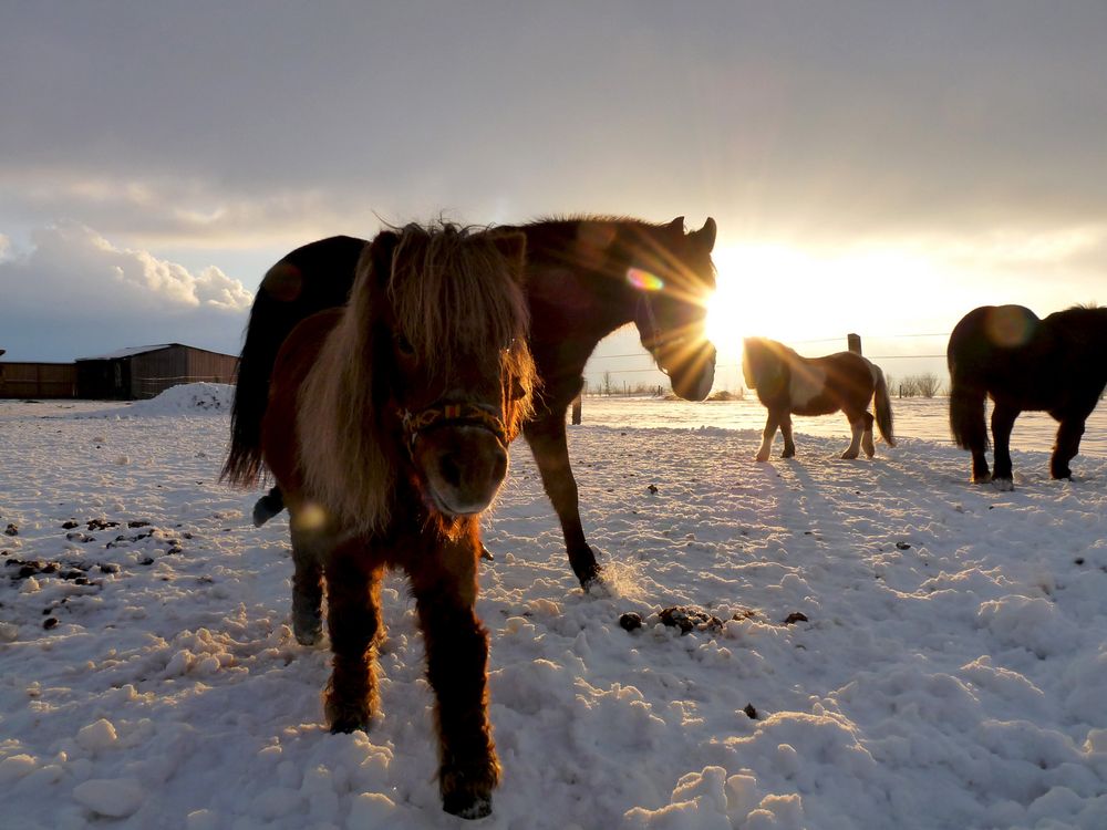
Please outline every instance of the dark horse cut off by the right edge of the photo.
[{"label": "dark horse cut off by the right edge of the photo", "polygon": [[[1084,423],[1107,386],[1107,309],[1076,307],[1039,320],[1022,305],[983,305],[950,335],[950,428],[972,453],[972,480],[1014,488],[1011,429],[1020,413],[1045,411],[1059,423],[1049,475],[1070,478]],[[991,397],[995,468],[987,469],[984,398]]]}]

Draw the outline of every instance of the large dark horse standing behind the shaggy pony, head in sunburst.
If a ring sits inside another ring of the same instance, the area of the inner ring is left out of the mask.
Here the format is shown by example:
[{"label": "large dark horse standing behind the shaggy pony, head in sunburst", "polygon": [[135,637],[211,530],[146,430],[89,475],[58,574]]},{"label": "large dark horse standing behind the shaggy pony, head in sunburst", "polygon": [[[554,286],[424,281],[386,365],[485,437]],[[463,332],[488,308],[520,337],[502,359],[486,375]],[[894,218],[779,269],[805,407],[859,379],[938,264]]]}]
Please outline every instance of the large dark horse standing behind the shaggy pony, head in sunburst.
[{"label": "large dark horse standing behind the shaggy pony, head in sunburst", "polygon": [[[600,567],[580,521],[566,411],[581,390],[584,363],[597,343],[627,323],[638,326],[642,345],[677,395],[690,401],[707,396],[715,349],[704,338],[704,323],[715,287],[715,221],[708,218],[691,232],[685,232],[683,217],[665,225],[583,217],[498,230],[527,239],[530,351],[541,383],[524,437],[561,522],[569,563],[588,590],[600,581]],[[258,477],[258,425],[277,347],[299,320],[345,301],[364,243],[351,237],[311,242],[266,274],[242,347],[231,415],[235,445],[225,476],[244,481]],[[280,491],[271,491],[258,502],[255,521],[279,512],[281,505]]]}]

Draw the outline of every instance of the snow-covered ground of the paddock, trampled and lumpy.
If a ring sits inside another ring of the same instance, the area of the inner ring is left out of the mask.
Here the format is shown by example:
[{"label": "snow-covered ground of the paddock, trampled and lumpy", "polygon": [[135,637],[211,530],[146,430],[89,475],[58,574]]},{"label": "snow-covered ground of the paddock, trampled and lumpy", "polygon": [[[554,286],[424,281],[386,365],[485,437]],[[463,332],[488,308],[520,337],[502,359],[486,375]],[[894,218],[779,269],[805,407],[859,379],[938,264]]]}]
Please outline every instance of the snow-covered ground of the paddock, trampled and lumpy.
[{"label": "snow-covered ground of the paddock, trampled and lumpy", "polygon": [[[1107,827],[1101,413],[1072,483],[1016,426],[996,492],[966,483],[940,402],[894,402],[901,444],[872,461],[836,458],[830,417],[764,465],[751,404],[594,402],[570,452],[610,595],[577,587],[521,444],[486,521],[504,776],[474,826]],[[0,827],[465,826],[439,808],[399,578],[380,717],[322,726],[287,523],[255,529],[257,494],[216,481],[226,403],[0,403]],[[666,405],[702,414],[655,426]],[[717,623],[681,635],[672,605]]]}]

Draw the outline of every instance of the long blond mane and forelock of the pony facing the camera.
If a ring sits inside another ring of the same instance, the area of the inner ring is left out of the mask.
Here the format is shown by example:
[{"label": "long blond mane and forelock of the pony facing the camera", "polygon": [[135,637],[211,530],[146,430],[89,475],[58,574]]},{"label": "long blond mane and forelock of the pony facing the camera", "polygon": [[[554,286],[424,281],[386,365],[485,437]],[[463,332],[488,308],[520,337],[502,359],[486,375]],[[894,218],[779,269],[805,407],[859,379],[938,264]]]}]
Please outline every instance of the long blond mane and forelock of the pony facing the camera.
[{"label": "long blond mane and forelock of the pony facing the camera", "polygon": [[407,225],[365,247],[349,303],[300,390],[297,414],[304,492],[341,526],[383,528],[397,479],[399,436],[385,434],[389,413],[382,412],[390,405],[380,392],[386,382],[374,377],[382,356],[374,350],[383,346],[373,322],[385,299],[392,324],[421,365],[448,377],[459,361],[499,360],[525,392],[517,424],[529,414],[535,374],[526,345],[524,247],[519,235],[447,224]]}]

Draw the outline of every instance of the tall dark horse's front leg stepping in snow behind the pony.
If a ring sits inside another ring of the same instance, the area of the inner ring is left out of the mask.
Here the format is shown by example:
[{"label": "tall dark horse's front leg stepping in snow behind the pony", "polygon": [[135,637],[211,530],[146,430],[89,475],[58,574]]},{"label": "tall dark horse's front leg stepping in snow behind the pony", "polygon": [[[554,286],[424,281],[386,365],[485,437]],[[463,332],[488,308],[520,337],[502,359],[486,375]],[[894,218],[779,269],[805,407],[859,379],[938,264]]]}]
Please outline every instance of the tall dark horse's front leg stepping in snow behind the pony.
[{"label": "tall dark horse's front leg stepping in snow behind the pony", "polygon": [[580,525],[577,480],[569,466],[565,413],[560,418],[548,417],[527,424],[524,436],[535,456],[546,495],[561,522],[569,564],[580,580],[581,588],[587,591],[600,581],[600,566],[596,563],[596,554],[584,539],[584,530]]}]

